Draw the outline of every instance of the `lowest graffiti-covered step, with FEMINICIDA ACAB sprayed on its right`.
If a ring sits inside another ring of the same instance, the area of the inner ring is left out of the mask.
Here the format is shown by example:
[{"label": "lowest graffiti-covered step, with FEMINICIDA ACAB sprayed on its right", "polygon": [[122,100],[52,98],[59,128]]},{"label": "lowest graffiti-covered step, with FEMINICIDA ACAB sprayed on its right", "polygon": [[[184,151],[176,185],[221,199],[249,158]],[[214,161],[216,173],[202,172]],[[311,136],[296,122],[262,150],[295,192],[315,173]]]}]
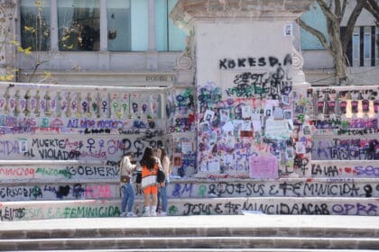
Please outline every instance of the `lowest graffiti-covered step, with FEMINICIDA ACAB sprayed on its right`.
[{"label": "lowest graffiti-covered step, with FEMINICIDA ACAB sprayed on its right", "polygon": [[[143,200],[136,199],[134,212],[142,216]],[[1,202],[0,220],[118,217],[121,201]],[[168,214],[235,215],[249,213],[306,215],[379,215],[379,198],[346,197],[231,197],[170,199]]]}]

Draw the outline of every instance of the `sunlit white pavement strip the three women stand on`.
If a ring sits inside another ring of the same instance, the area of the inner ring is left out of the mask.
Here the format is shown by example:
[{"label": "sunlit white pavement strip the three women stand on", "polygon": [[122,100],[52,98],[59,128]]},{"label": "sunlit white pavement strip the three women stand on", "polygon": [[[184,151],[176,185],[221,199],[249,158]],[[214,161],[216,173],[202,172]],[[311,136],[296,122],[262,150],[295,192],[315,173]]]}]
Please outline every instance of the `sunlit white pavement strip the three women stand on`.
[{"label": "sunlit white pavement strip the three women stand on", "polygon": [[50,220],[0,221],[5,230],[57,229],[149,229],[162,228],[305,228],[305,229],[377,229],[379,217],[345,215],[197,215],[165,217],[117,217]]}]

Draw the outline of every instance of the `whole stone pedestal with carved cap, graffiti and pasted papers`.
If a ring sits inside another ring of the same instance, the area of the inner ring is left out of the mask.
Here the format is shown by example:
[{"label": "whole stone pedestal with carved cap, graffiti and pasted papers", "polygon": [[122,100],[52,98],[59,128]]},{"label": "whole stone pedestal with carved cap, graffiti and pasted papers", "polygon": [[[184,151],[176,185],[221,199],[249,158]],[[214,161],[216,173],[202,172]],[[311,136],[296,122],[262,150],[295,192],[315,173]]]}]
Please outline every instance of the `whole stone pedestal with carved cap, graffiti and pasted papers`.
[{"label": "whole stone pedestal with carved cap, graffiti and pasted papers", "polygon": [[311,2],[180,0],[173,9],[193,33],[199,177],[293,171],[292,88],[305,80],[292,23]]}]

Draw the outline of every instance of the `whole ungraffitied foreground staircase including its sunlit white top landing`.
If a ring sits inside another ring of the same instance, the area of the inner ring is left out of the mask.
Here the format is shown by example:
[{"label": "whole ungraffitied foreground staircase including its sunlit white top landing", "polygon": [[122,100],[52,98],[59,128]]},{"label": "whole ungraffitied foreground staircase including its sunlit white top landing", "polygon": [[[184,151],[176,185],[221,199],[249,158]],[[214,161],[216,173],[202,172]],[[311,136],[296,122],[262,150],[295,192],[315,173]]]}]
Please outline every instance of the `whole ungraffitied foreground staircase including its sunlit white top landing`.
[{"label": "whole ungraffitied foreground staircase including its sunlit white top landing", "polygon": [[247,214],[4,222],[1,251],[378,251],[379,219]]}]

